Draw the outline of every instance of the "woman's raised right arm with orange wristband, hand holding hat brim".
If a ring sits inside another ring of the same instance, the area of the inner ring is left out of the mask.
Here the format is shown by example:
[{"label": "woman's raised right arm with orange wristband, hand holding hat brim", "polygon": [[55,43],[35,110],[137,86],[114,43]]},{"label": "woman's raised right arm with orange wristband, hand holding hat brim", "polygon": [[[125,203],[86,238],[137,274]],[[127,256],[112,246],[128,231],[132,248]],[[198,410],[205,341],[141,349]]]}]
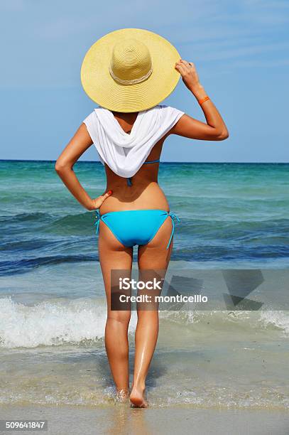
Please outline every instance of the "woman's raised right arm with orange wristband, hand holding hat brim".
[{"label": "woman's raised right arm with orange wristband, hand holding hat brim", "polygon": [[[207,96],[204,87],[200,84],[195,65],[192,62],[180,60],[180,62],[175,64],[175,69],[179,71],[183,82],[192,94],[195,95],[197,100],[202,100],[202,98]],[[200,106],[205,114],[207,124],[184,114],[173,129],[170,130],[170,134],[178,134],[190,139],[202,139],[205,141],[223,141],[227,139],[229,131],[212,100],[207,100],[200,104]]]}]

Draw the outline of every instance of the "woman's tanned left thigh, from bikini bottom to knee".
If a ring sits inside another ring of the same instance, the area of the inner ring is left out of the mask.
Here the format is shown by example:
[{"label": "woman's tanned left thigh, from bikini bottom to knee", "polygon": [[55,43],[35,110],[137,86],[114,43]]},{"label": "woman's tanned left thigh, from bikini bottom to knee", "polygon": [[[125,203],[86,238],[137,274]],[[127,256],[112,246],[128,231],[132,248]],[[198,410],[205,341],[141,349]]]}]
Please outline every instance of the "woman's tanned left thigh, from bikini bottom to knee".
[{"label": "woman's tanned left thigh, from bikini bottom to knee", "polygon": [[126,320],[130,316],[130,310],[124,310],[125,306],[122,306],[121,311],[111,307],[111,288],[116,284],[114,276],[131,278],[132,259],[133,249],[122,245],[109,227],[104,222],[99,222],[99,262],[107,295],[107,313],[110,318],[119,321]]}]

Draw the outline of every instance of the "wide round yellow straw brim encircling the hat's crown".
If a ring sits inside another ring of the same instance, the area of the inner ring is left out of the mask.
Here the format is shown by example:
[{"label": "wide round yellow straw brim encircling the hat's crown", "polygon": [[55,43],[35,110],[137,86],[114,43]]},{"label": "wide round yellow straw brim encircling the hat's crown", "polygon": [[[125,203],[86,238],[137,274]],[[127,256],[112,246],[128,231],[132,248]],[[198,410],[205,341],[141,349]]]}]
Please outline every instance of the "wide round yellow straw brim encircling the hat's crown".
[{"label": "wide round yellow straw brim encircling the hat's crown", "polygon": [[[151,53],[153,72],[143,82],[121,85],[109,73],[111,52],[116,42],[136,38]],[[141,112],[165,100],[175,89],[180,73],[175,63],[180,55],[162,36],[140,28],[122,28],[100,38],[82,61],[80,79],[88,97],[115,112]]]}]

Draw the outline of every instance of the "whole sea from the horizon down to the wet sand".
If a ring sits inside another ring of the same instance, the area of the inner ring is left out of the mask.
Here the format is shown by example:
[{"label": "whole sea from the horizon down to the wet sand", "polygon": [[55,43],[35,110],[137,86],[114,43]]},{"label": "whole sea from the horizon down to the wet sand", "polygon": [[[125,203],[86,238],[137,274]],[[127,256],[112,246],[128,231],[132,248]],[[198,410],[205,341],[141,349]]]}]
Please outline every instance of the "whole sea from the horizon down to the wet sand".
[{"label": "whole sea from the horizon down to the wet sand", "polygon": [[[54,164],[0,161],[0,404],[111,407],[94,212]],[[74,170],[103,193],[101,163]],[[168,272],[261,274],[251,301],[271,289],[253,309],[161,310],[150,406],[288,409],[289,163],[163,162],[159,183],[180,218]],[[135,327],[133,311],[131,376]]]}]

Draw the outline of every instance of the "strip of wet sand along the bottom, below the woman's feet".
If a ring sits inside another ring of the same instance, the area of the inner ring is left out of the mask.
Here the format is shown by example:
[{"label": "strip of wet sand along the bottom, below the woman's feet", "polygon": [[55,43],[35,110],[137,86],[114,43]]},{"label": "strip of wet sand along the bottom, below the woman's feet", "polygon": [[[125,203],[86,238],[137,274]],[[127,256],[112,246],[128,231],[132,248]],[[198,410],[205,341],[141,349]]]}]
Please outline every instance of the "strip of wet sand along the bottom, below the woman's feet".
[{"label": "strip of wet sand along the bottom, below the woman's feet", "polygon": [[[289,412],[263,409],[133,409],[129,404],[111,408],[2,405],[0,419],[47,419],[48,431],[43,433],[53,435],[289,434]],[[16,433],[21,431],[1,431],[1,434]]]}]

